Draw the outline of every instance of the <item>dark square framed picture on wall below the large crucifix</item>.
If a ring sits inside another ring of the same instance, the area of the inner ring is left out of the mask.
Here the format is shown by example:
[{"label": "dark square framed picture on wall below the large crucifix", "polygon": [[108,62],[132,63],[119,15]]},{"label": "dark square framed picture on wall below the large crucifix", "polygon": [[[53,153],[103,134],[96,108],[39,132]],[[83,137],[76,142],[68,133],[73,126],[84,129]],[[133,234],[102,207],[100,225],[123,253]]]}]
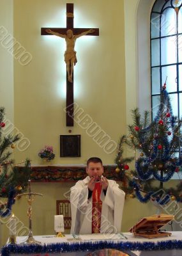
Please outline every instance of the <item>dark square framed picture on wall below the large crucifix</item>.
[{"label": "dark square framed picture on wall below the large crucifix", "polygon": [[80,135],[60,135],[60,157],[80,157]]}]

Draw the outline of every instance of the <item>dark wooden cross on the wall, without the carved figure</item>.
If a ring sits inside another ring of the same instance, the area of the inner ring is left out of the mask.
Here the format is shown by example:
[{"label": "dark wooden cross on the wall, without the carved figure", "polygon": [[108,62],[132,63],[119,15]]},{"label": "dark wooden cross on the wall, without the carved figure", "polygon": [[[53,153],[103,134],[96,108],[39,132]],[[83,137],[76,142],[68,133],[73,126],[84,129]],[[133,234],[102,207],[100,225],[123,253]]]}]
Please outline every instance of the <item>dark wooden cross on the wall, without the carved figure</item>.
[{"label": "dark wooden cross on the wall, without the carved figure", "polygon": [[[50,35],[47,33],[47,29],[51,29],[54,33],[59,33],[62,35],[66,35],[68,29],[72,29],[73,35],[80,35],[88,31],[90,28],[74,28],[73,26],[73,4],[66,4],[66,28],[41,28],[41,35]],[[93,28],[93,33],[88,33],[87,35],[98,36],[99,29]],[[66,72],[66,126],[73,126],[73,76],[72,82],[68,81],[68,72]]]}]

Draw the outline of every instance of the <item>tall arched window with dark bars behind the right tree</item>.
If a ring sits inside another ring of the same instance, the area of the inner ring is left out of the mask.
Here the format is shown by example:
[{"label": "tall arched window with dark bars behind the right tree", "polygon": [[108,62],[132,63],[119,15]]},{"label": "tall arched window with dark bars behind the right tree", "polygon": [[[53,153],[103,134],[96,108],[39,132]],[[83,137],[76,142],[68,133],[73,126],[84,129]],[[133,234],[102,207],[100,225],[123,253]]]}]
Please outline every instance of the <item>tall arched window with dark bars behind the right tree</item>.
[{"label": "tall arched window with dark bars behind the right tree", "polygon": [[167,77],[173,114],[182,116],[182,0],[156,0],[151,10],[151,102],[153,118]]}]

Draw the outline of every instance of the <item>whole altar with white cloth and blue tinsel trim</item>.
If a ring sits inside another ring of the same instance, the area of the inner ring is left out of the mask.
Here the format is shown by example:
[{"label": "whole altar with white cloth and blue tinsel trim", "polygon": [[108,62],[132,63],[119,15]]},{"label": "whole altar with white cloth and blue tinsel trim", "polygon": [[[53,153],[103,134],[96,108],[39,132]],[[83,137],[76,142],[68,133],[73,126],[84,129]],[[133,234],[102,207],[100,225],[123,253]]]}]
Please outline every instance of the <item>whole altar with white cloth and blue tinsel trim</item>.
[{"label": "whole altar with white cloth and blue tinsel trim", "polygon": [[[146,239],[133,237],[131,233],[123,234],[92,234],[92,235],[66,235],[65,237],[55,236],[34,236],[41,245],[20,244],[26,241],[27,237],[17,237],[16,244],[7,244],[2,248],[2,256],[91,256],[108,255],[94,254],[93,252],[103,249],[113,249],[130,256],[181,256],[182,255],[182,232],[172,232],[171,237],[158,239]],[[103,252],[103,251],[102,251]],[[119,255],[119,254],[113,254]],[[124,254],[123,254],[124,255]]]}]

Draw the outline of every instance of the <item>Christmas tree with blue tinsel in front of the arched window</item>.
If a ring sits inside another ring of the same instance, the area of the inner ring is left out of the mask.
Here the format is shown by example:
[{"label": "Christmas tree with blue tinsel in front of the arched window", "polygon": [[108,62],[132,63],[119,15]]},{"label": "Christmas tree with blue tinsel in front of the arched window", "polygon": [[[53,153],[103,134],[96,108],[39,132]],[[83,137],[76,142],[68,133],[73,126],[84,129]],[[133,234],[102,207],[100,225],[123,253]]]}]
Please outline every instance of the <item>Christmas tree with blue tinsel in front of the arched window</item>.
[{"label": "Christmas tree with blue tinsel in front of the arched window", "polygon": [[[169,94],[165,84],[160,93],[160,104],[155,119],[150,122],[149,112],[141,116],[134,109],[133,124],[128,126],[130,135],[126,144],[135,152],[135,172],[128,175],[133,195],[140,202],[156,200],[166,204],[169,200],[182,202],[182,184],[165,189],[165,182],[178,173],[181,164],[181,120],[172,114]],[[139,154],[139,158],[137,158]],[[165,196],[163,195],[165,192]]]}]

